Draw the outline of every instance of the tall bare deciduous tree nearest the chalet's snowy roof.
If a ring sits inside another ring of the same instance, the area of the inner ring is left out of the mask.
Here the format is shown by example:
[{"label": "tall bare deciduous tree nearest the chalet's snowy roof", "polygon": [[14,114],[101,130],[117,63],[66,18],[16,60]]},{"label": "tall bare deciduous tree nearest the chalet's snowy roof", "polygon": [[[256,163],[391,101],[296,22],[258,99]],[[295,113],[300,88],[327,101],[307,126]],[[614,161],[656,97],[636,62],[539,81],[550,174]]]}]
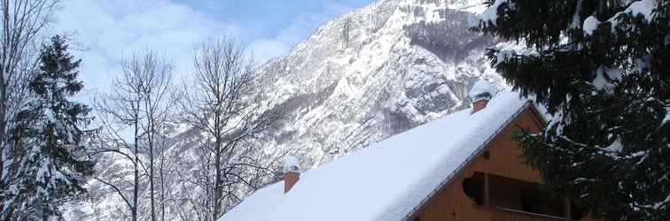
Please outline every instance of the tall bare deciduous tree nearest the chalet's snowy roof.
[{"label": "tall bare deciduous tree nearest the chalet's snowy roof", "polygon": [[[233,39],[202,44],[193,59],[194,82],[184,84],[179,106],[182,120],[206,137],[199,148],[203,154],[199,178],[205,199],[191,199],[194,208],[205,203],[206,220],[222,215],[224,203],[238,202],[239,185],[257,188],[245,176],[245,168],[269,171],[255,164],[253,145],[246,143],[266,131],[277,120],[277,111],[263,111],[254,88],[253,59]],[[273,109],[279,110],[279,109]],[[204,212],[200,212],[202,214]]]}]

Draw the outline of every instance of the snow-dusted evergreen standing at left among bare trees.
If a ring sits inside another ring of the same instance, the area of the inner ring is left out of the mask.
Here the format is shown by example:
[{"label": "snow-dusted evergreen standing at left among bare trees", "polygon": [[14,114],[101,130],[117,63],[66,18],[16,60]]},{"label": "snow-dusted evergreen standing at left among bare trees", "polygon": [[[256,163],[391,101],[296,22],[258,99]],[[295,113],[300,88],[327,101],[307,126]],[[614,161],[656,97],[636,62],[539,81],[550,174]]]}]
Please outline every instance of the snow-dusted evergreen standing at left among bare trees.
[{"label": "snow-dusted evergreen standing at left among bare trees", "polygon": [[12,129],[12,141],[24,147],[18,155],[20,181],[12,219],[62,218],[58,207],[84,193],[85,178],[93,173],[80,128],[90,120],[89,108],[70,101],[83,88],[77,80],[80,60],[67,48],[58,35],[43,45],[39,70],[29,84],[33,97]]}]

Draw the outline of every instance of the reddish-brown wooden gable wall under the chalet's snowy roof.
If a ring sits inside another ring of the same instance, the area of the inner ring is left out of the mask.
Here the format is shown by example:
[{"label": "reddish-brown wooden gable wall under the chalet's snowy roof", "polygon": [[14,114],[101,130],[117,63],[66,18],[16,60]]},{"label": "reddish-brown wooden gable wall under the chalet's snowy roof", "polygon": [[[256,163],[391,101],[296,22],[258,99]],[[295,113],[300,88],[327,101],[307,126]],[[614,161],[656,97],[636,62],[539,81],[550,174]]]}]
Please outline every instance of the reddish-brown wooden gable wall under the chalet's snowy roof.
[{"label": "reddish-brown wooden gable wall under the chalet's snowy roof", "polygon": [[[511,179],[525,180],[534,183],[542,183],[539,171],[523,164],[520,158],[521,149],[512,134],[518,127],[525,127],[533,132],[539,132],[544,122],[539,118],[533,107],[523,110],[517,118],[503,128],[501,133],[488,143],[487,157],[485,151],[475,157],[465,168],[456,174],[454,179],[443,187],[437,194],[425,203],[424,207],[410,217],[410,221],[443,221],[443,220],[496,220],[496,221],[521,221],[521,220],[566,220],[565,218],[542,216],[516,210],[504,210],[488,206],[477,205],[471,198],[465,195],[463,190],[464,179],[470,178],[475,172],[493,174]],[[486,182],[484,185],[487,185]],[[487,195],[487,191],[484,193]],[[485,198],[485,205],[487,196]],[[567,201],[566,201],[567,202]],[[569,203],[569,202],[567,202]],[[569,208],[569,207],[567,207]],[[582,220],[596,220],[583,218]]]}]

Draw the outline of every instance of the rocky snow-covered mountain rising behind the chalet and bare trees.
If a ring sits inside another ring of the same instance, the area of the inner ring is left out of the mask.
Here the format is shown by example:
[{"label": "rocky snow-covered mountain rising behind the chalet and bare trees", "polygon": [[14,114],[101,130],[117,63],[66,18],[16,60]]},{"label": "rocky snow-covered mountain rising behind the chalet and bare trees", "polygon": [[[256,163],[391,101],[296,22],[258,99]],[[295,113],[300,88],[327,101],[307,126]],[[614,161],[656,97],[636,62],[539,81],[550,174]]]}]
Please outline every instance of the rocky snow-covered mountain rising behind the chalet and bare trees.
[{"label": "rocky snow-covered mountain rising behind the chalet and bare trees", "polygon": [[[485,48],[496,40],[467,30],[469,18],[485,9],[481,1],[379,0],[331,19],[286,56],[261,65],[258,88],[285,115],[275,131],[256,142],[259,155],[298,156],[302,168],[309,169],[466,108],[469,88],[480,79],[509,88],[484,58]],[[184,199],[199,194],[199,180],[183,177],[200,172],[193,166],[200,160],[193,147],[202,134],[178,122],[173,129],[165,142],[172,159],[166,217],[198,220],[202,214],[184,212],[197,207]],[[129,176],[129,163],[114,156],[101,160],[101,176]],[[265,164],[277,173],[253,182],[279,178],[281,162]],[[128,210],[114,190],[94,181],[90,189],[91,198],[74,206],[70,218],[128,218],[121,215]],[[140,210],[145,210],[148,193],[140,192]]]}]

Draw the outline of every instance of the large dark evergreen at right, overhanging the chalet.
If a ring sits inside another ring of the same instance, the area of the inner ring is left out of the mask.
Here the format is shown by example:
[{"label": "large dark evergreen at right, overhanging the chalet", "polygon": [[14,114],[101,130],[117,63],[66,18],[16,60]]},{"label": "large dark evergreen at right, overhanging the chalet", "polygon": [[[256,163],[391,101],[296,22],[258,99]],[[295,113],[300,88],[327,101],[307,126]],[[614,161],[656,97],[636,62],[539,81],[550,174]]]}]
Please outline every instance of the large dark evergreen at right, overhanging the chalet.
[{"label": "large dark evergreen at right, overhanging the chalet", "polygon": [[525,44],[487,52],[553,119],[518,133],[551,186],[610,220],[668,220],[670,1],[496,0],[473,27]]}]

